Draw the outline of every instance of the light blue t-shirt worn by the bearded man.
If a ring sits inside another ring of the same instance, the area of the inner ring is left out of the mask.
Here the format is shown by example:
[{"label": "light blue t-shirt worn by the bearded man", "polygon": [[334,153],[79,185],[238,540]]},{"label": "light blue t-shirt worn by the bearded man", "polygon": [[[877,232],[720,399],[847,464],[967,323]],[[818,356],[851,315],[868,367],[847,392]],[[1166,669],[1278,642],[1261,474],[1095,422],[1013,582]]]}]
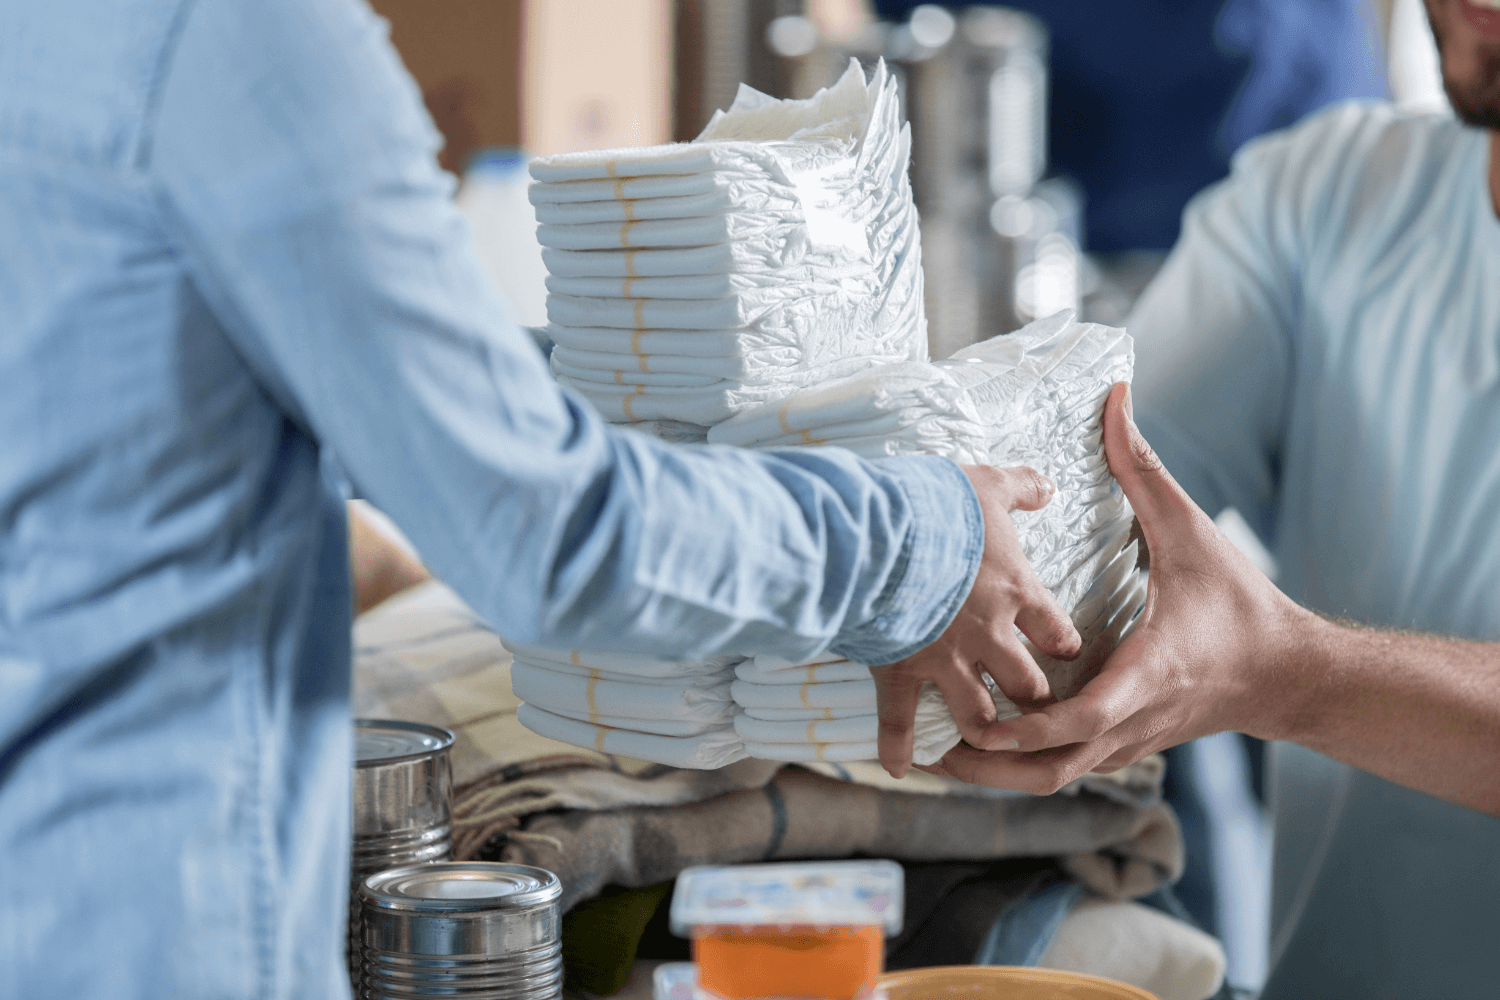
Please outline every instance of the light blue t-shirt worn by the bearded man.
[{"label": "light blue t-shirt worn by the bearded man", "polygon": [[[1500,639],[1488,166],[1490,135],[1450,117],[1330,109],[1194,199],[1130,318],[1142,430],[1314,609]],[[1274,759],[1264,999],[1494,996],[1500,819],[1302,748]]]}]

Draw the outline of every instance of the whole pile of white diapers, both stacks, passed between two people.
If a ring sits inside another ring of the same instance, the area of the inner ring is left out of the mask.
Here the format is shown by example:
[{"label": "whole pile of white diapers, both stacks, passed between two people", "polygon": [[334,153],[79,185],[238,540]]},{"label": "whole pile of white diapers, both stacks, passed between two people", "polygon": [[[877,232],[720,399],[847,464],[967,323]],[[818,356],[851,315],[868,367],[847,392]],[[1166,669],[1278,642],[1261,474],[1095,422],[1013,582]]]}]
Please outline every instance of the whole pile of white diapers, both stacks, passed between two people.
[{"label": "whole pile of white diapers, both stacks, passed between two people", "polygon": [[[1146,598],[1102,447],[1131,342],[1064,312],[927,361],[909,151],[884,64],[866,82],[850,63],[808,100],[741,87],[693,142],[532,160],[552,370],[608,420],[668,441],[942,454],[1052,477],[1052,504],[1012,519],[1083,637],[1074,663],[1028,643],[1065,697]],[[870,670],[836,654],[684,663],[507,646],[519,720],[552,739],[678,768],[876,757]],[[992,694],[1002,718],[1018,714]],[[927,684],[914,760],[958,739]]]}]

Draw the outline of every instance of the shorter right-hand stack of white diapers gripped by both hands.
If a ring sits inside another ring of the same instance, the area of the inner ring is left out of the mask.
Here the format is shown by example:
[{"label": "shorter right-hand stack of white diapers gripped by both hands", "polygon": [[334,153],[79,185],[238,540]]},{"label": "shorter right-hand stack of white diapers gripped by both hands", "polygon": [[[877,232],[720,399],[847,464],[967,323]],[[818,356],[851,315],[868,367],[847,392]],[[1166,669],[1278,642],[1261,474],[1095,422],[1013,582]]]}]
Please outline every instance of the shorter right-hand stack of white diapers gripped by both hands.
[{"label": "shorter right-hand stack of white diapers gripped by both hands", "polygon": [[[1046,657],[1026,643],[1053,694],[1070,697],[1119,645],[1146,601],[1146,577],[1136,568],[1136,546],[1126,544],[1132,511],[1110,475],[1102,445],[1104,399],[1110,385],[1130,379],[1131,364],[1131,342],[1124,330],[1080,324],[1065,310],[966,348],[946,361],[886,364],[801,390],[712,427],[708,439],[742,447],[831,444],[866,457],[944,454],[974,465],[1029,465],[1048,475],[1058,484],[1053,501],[1040,511],[1016,511],[1011,519],[1026,558],[1083,637],[1083,654],[1072,663]],[[746,669],[740,670],[732,688],[735,700],[747,690],[756,700],[758,714],[750,717],[754,721],[736,720],[752,754],[778,760],[874,756],[873,684],[866,702],[856,703],[849,688],[838,691],[843,700],[834,706],[828,702],[834,688],[818,687],[826,682],[826,675],[808,684],[824,666],[782,666],[756,658],[754,676],[760,679],[753,681],[754,688],[748,688]],[[806,673],[808,667],[814,673]],[[774,702],[766,691],[777,687],[766,682],[772,676],[784,678]],[[1017,714],[993,685],[992,694],[1002,717]],[[748,715],[748,703],[741,705]],[[770,708],[796,706],[837,708],[844,715],[824,718],[824,723],[837,720],[837,729],[810,726],[802,735],[789,727],[762,727],[772,721],[804,726],[818,721],[764,717]],[[914,760],[932,763],[958,742],[958,732],[936,690],[924,693],[922,709],[928,715],[926,720],[918,715]],[[862,723],[849,721],[861,715]],[[765,739],[771,735],[783,739]],[[867,739],[855,748],[860,736]],[[774,751],[766,750],[771,744]]]}]

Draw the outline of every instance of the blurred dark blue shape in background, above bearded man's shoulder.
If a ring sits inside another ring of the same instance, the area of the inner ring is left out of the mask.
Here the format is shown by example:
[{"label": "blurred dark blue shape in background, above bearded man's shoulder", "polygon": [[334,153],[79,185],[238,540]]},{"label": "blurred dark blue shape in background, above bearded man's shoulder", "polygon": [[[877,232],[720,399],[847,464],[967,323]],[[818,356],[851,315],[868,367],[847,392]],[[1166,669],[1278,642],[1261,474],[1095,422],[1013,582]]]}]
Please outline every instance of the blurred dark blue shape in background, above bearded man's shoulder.
[{"label": "blurred dark blue shape in background, above bearded man's shoulder", "polygon": [[[904,21],[909,0],[876,0]],[[944,4],[950,7],[964,3]],[[1386,96],[1365,0],[1014,0],[1052,31],[1048,160],[1088,196],[1089,250],[1170,249],[1248,139]]]}]

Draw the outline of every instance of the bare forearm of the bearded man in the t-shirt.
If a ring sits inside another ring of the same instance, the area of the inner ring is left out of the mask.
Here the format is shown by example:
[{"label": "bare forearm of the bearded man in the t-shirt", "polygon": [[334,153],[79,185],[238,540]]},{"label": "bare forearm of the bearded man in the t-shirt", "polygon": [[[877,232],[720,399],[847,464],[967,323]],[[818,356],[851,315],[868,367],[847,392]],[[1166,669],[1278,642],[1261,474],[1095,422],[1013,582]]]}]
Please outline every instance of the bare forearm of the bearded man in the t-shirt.
[{"label": "bare forearm of the bearded man in the t-shirt", "polygon": [[1256,735],[1500,816],[1500,643],[1304,622]]}]

